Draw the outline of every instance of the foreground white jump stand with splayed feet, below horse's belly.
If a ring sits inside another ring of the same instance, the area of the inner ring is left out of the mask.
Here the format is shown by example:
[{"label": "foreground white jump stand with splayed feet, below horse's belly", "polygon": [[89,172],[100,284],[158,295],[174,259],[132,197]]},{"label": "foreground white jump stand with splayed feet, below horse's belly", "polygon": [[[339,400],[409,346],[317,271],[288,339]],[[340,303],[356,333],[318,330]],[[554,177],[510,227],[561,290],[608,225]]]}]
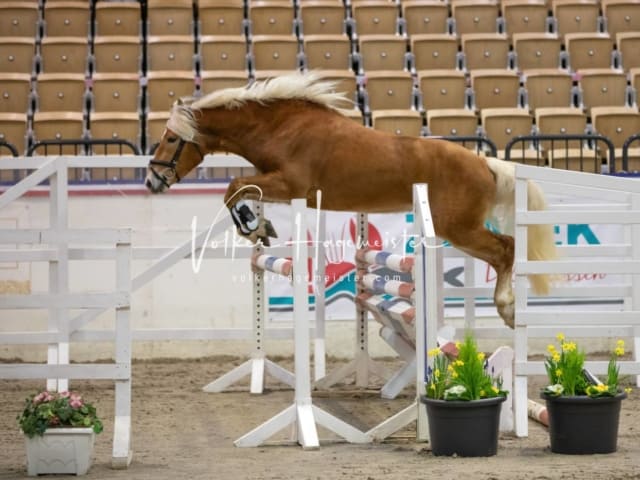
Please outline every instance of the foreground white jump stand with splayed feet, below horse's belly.
[{"label": "foreground white jump stand with splayed feet, below horse's belly", "polygon": [[293,320],[294,320],[294,403],[262,425],[234,442],[237,447],[257,447],[273,435],[293,425],[294,440],[305,449],[320,446],[316,424],[340,435],[351,443],[368,443],[369,438],[360,430],[334,417],[311,400],[311,365],[309,361],[311,335],[309,332],[309,293],[307,279],[307,224],[306,199],[291,201],[293,238]]}]

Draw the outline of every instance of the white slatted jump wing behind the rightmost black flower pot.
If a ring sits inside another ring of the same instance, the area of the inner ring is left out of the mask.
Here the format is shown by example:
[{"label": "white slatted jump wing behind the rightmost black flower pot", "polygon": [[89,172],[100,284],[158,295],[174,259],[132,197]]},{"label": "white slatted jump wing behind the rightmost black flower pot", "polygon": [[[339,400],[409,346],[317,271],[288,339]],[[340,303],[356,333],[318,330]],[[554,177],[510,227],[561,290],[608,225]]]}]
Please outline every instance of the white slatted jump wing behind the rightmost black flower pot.
[{"label": "white slatted jump wing behind the rightmost black flower pot", "polygon": [[[546,211],[527,210],[528,180],[539,183],[546,192],[587,197],[592,204],[579,209],[570,204],[553,206]],[[613,206],[612,206],[613,205]],[[553,261],[527,260],[527,226],[569,223],[618,224],[624,226],[618,244],[566,247]],[[633,339],[634,358],[621,361],[622,374],[640,374],[640,182],[603,175],[569,172],[550,168],[516,166],[516,315],[515,315],[515,428],[518,436],[528,434],[527,377],[544,375],[542,361],[530,361],[529,339],[552,337],[563,332],[567,337]],[[627,278],[620,285],[566,287],[557,284],[551,292],[556,297],[625,297],[619,311],[588,311],[564,306],[562,310],[537,309],[528,302],[527,275],[548,273],[603,273]],[[587,361],[585,366],[598,375],[606,374],[607,361]]]}]

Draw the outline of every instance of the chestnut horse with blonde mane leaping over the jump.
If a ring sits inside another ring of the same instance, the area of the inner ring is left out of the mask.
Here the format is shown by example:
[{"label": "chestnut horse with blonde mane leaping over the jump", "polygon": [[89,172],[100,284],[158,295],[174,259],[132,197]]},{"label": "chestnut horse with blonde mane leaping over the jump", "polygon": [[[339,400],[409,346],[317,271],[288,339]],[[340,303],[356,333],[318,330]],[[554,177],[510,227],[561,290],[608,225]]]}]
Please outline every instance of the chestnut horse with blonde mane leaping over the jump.
[{"label": "chestnut horse with blonde mane leaping over the jump", "polygon": [[[268,221],[256,220],[245,200],[306,198],[315,207],[321,191],[327,210],[406,212],[412,208],[412,185],[427,183],[436,234],[494,268],[494,301],[513,327],[514,238],[485,226],[499,212],[513,223],[513,165],[453,142],[366,128],[340,113],[346,99],[334,88],[314,73],[296,73],[177,102],[149,162],[147,188],[165,191],[207,153],[240,155],[259,173],[234,178],[225,202],[240,235],[266,243],[275,232]],[[529,209],[545,207],[532,182],[528,198]],[[528,231],[529,259],[553,258],[551,226]],[[530,282],[536,293],[548,292],[547,276],[532,276]]]}]

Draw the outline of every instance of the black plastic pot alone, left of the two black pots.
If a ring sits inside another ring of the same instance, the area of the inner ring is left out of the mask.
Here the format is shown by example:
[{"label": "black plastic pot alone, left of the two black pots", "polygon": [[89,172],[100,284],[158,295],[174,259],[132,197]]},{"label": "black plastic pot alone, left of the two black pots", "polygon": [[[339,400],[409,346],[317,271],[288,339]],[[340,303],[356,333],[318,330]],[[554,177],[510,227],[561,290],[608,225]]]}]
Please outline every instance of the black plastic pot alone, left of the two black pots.
[{"label": "black plastic pot alone, left of the two black pots", "polygon": [[429,438],[434,455],[489,457],[498,451],[500,408],[506,397],[472,401],[434,400],[427,406]]}]

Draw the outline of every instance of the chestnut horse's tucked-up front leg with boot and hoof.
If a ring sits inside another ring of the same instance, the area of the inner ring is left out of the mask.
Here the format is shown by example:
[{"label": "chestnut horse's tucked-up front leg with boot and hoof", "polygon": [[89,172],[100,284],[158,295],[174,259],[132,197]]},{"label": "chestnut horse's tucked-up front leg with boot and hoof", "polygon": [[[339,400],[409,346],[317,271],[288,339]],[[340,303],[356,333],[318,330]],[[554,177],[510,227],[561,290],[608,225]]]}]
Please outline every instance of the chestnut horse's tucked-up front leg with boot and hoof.
[{"label": "chestnut horse's tucked-up front leg with boot and hoof", "polygon": [[271,222],[264,217],[259,219],[249,207],[247,200],[286,202],[291,199],[289,189],[278,173],[238,177],[231,181],[225,194],[225,205],[238,234],[252,243],[262,242],[269,246],[269,238],[277,238]]}]

